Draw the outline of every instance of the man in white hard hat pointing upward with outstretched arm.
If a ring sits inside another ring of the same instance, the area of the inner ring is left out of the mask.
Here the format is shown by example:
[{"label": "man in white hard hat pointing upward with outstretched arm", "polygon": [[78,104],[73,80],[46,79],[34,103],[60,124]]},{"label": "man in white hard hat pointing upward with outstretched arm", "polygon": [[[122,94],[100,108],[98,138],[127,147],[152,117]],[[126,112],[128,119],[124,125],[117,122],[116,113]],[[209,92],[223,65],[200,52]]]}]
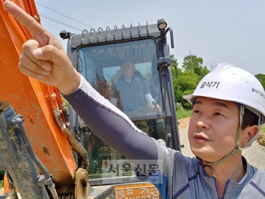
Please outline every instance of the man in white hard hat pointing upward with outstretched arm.
[{"label": "man in white hard hat pointing upward with outstretched arm", "polygon": [[[72,67],[59,41],[35,19],[10,1],[4,5],[36,36],[23,46],[20,71],[57,86],[87,126],[134,164],[162,160],[158,174],[163,182],[155,185],[165,199],[265,198],[265,172],[249,165],[241,154],[264,123],[265,92],[253,75],[221,63],[192,95],[184,96],[193,105],[188,137],[195,155],[184,157],[144,134],[100,96]],[[153,173],[146,178],[152,180]]]}]

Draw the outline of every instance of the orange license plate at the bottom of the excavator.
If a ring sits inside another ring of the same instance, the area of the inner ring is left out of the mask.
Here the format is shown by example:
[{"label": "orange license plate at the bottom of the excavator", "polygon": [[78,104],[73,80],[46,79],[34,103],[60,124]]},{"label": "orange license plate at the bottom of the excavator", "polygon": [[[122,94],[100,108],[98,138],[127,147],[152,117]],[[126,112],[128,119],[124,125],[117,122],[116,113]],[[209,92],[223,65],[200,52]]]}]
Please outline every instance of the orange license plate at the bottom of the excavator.
[{"label": "orange license plate at the bottom of the excavator", "polygon": [[116,199],[159,199],[158,189],[150,183],[115,187]]}]

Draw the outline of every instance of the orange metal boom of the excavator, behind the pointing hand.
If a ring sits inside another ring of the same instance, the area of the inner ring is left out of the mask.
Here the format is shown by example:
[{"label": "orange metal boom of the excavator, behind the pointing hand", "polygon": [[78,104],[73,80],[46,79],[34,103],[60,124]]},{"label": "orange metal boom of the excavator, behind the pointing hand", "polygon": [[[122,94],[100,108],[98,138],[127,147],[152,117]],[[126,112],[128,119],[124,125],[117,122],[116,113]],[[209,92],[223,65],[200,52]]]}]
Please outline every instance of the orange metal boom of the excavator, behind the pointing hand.
[{"label": "orange metal boom of the excavator, behind the pointing hand", "polygon": [[[33,0],[13,2],[40,23]],[[60,103],[63,102],[63,98],[55,87],[20,73],[18,59],[21,46],[33,36],[8,14],[3,3],[1,0],[0,101],[8,101],[17,114],[23,115],[26,121],[25,129],[33,149],[53,174],[54,183],[59,186],[73,185],[76,162],[69,141],[53,115],[56,107],[61,109]]]}]

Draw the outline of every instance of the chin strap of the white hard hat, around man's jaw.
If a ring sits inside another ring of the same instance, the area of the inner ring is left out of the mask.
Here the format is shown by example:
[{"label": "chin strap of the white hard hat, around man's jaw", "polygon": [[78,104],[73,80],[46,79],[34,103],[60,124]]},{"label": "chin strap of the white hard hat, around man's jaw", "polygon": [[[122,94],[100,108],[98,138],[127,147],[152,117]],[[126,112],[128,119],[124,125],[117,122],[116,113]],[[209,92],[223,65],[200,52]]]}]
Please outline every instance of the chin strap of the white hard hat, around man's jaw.
[{"label": "chin strap of the white hard hat, around man's jaw", "polygon": [[216,165],[222,164],[223,162],[227,161],[232,156],[235,156],[235,154],[238,151],[242,151],[242,150],[245,150],[246,148],[248,148],[256,140],[256,138],[258,137],[259,132],[261,130],[261,122],[260,122],[261,117],[259,117],[259,121],[258,121],[258,129],[259,130],[258,130],[258,133],[243,148],[240,148],[241,123],[242,123],[242,119],[243,119],[243,115],[244,115],[245,106],[242,105],[242,104],[239,104],[239,105],[240,105],[240,110],[239,110],[239,129],[238,129],[238,132],[237,132],[236,145],[235,145],[234,150],[232,152],[230,152],[229,154],[227,154],[227,156],[225,156],[224,158],[222,158],[222,159],[220,159],[220,160],[218,160],[216,162],[203,163],[203,160],[201,158],[197,157],[198,160],[202,163],[203,166],[208,167],[211,170],[213,178],[215,178],[215,175],[214,175],[212,166],[216,166]]}]

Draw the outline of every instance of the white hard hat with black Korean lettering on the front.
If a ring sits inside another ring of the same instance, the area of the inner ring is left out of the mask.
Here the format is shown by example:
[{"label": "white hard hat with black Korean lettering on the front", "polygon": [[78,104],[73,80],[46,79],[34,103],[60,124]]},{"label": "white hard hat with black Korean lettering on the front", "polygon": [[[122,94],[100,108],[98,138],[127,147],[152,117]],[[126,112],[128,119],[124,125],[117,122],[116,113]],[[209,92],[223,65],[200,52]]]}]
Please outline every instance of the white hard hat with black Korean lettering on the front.
[{"label": "white hard hat with black Korean lettering on the front", "polygon": [[246,105],[259,118],[260,114],[265,116],[265,92],[261,83],[251,73],[229,63],[219,63],[201,80],[192,95],[183,98],[192,104],[198,96],[234,101]]}]

